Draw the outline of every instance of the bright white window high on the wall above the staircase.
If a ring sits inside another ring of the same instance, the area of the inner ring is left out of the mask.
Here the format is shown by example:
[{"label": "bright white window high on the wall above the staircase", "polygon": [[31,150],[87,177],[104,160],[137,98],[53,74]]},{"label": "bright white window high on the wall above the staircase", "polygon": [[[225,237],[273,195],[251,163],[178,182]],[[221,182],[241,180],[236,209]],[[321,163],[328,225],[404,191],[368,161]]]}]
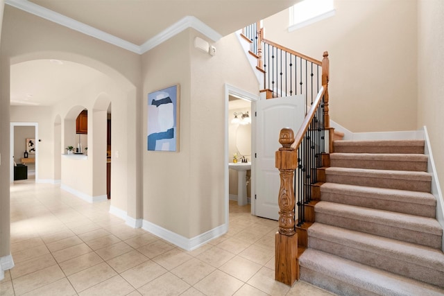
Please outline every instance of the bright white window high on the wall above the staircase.
[{"label": "bright white window high on the wall above the staircase", "polygon": [[334,15],[333,0],[303,0],[290,8],[289,31]]}]

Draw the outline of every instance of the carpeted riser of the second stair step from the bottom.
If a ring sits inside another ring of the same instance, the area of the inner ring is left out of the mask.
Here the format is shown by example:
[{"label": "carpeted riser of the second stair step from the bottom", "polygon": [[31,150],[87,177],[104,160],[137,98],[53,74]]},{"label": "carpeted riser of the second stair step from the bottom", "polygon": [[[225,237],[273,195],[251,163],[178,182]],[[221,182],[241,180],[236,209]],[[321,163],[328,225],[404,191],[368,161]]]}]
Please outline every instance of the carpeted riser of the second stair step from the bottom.
[{"label": "carpeted riser of the second stair step from the bottom", "polygon": [[384,254],[385,250],[369,252],[313,236],[309,236],[309,247],[444,288],[444,272],[417,265],[413,261],[401,261],[391,254]]}]

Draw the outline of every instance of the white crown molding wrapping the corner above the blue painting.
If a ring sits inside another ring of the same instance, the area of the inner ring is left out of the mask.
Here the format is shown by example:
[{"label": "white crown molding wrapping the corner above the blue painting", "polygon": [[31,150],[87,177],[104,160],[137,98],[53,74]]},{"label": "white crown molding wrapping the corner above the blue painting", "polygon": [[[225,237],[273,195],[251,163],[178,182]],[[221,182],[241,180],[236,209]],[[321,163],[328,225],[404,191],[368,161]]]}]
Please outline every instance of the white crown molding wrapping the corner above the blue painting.
[{"label": "white crown molding wrapping the corner above the blue painting", "polygon": [[176,22],[172,26],[169,26],[161,33],[155,35],[153,38],[142,44],[140,46],[142,53],[146,53],[155,46],[162,44],[163,42],[169,40],[169,38],[177,35],[178,33],[184,31],[187,28],[194,28],[194,30],[202,33],[206,37],[210,38],[214,42],[222,38],[222,35],[214,31],[210,26],[207,26],[200,19],[192,16],[187,16],[180,21]]}]

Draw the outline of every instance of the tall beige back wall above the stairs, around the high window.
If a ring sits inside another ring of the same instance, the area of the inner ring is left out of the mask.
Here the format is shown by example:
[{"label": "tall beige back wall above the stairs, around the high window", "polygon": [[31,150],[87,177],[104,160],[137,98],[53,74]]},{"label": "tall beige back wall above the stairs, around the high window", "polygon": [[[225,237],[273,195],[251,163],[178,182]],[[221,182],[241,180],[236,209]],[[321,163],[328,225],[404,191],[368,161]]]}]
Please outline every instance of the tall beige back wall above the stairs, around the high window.
[{"label": "tall beige back wall above the stairs, around the high window", "polygon": [[265,38],[322,60],[330,54],[331,119],[352,132],[416,129],[416,0],[335,0],[336,15],[288,33],[289,11]]}]

